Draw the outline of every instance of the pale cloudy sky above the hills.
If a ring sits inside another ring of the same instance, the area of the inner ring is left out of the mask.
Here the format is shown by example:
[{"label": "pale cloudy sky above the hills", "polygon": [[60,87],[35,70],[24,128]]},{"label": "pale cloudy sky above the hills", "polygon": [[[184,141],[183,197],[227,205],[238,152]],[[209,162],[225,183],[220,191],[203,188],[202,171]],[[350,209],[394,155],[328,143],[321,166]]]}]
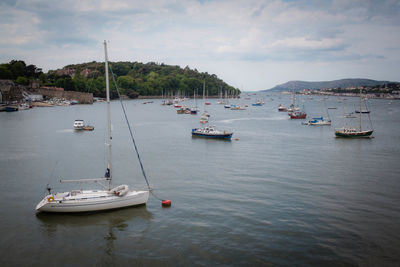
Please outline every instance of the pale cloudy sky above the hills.
[{"label": "pale cloudy sky above the hills", "polygon": [[0,63],[157,62],[243,91],[399,81],[400,0],[0,0]]}]

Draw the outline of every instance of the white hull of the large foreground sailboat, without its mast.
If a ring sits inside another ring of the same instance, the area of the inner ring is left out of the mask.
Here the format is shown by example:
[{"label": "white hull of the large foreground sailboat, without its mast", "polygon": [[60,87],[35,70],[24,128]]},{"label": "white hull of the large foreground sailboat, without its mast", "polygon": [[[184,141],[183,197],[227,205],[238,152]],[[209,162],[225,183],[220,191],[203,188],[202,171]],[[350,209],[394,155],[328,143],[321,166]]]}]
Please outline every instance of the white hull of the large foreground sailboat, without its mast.
[{"label": "white hull of the large foreground sailboat, without its mast", "polygon": [[110,191],[71,191],[47,195],[36,206],[39,212],[88,212],[144,205],[149,191],[129,191],[117,196]]}]

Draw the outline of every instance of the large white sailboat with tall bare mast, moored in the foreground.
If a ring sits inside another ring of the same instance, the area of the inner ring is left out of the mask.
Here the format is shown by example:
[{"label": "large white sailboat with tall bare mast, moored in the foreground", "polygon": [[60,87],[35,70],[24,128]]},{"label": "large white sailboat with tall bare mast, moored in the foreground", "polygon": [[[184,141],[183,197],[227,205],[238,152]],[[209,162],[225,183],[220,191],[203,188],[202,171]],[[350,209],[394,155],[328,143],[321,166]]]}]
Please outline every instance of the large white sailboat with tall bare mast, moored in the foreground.
[{"label": "large white sailboat with tall bare mast, moored in the foreground", "polygon": [[[107,123],[108,123],[108,166],[104,178],[61,180],[62,183],[98,183],[103,190],[71,190],[62,193],[47,194],[36,206],[40,212],[88,212],[118,209],[130,206],[144,205],[149,198],[149,191],[129,190],[127,185],[112,188],[112,160],[111,160],[111,115],[110,115],[110,89],[108,80],[107,44],[104,41],[106,93],[107,93]],[[102,184],[108,182],[108,186]]]}]

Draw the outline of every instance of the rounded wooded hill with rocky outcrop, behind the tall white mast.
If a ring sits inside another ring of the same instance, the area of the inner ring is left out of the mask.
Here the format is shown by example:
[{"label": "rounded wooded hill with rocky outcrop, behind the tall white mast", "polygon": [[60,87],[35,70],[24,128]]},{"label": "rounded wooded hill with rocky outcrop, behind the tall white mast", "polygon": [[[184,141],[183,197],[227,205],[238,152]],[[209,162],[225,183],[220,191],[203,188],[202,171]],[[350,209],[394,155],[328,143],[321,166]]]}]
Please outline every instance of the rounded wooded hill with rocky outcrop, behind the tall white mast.
[{"label": "rounded wooded hill with rocky outcrop, behind the tall white mast", "polygon": [[[210,96],[218,95],[220,90],[232,93],[238,90],[219,79],[215,74],[199,72],[187,66],[181,68],[154,62],[110,62],[109,65],[116,76],[121,93],[129,97],[160,96],[162,94],[179,94],[190,97],[193,96],[195,90],[201,95],[203,94],[203,82],[206,93]],[[104,92],[104,63],[102,62],[68,65],[55,73],[60,78],[71,77],[74,80],[84,81],[85,89],[92,91],[94,95],[101,95]],[[114,86],[113,82],[110,83],[110,86]]]}]

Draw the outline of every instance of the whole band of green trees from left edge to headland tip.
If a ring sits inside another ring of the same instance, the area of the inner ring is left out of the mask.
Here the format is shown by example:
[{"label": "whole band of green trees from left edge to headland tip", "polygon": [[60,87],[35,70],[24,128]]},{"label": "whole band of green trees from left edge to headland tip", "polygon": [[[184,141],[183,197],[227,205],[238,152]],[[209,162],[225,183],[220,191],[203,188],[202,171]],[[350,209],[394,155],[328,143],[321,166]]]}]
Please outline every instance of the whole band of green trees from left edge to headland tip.
[{"label": "whole band of green trees from left edge to headland tip", "polygon": [[[239,94],[234,88],[215,74],[192,70],[188,66],[158,64],[154,62],[109,62],[110,69],[120,93],[130,98],[142,96],[193,96],[203,94],[203,85],[209,96],[221,92],[229,95]],[[26,65],[24,61],[12,60],[0,65],[0,79],[11,79],[22,85],[30,80],[38,80],[42,86],[62,87],[66,91],[90,92],[96,97],[105,97],[105,77],[103,62],[89,62],[67,65],[61,70],[43,73],[35,65]],[[112,97],[117,96],[115,85],[110,76]]]}]

